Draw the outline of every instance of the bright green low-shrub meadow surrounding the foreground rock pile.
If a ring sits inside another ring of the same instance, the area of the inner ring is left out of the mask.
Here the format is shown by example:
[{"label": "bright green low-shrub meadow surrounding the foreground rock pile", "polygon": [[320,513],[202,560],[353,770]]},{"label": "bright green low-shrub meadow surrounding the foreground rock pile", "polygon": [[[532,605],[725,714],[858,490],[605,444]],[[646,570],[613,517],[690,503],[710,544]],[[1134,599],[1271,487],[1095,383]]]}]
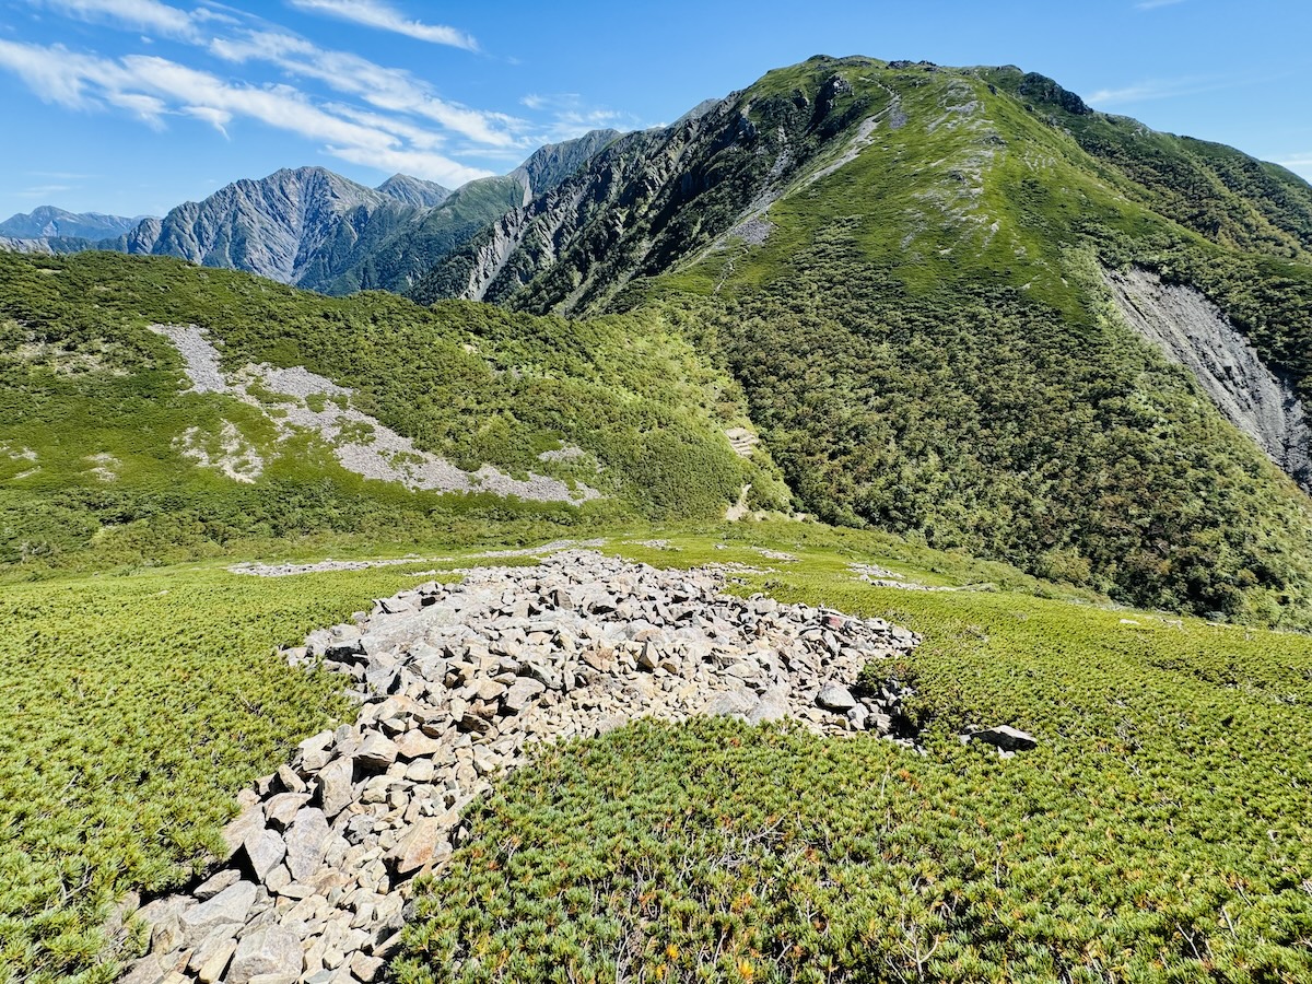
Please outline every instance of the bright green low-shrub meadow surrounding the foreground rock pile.
[{"label": "bright green low-shrub meadow surrounding the foreground rock pile", "polygon": [[[1312,639],[1118,609],[817,523],[630,527],[605,543],[750,567],[733,590],[922,632],[896,672],[918,689],[928,754],[727,722],[547,749],[475,807],[398,980],[1312,974]],[[331,680],[272,647],[471,562],[7,584],[0,980],[113,980],[140,942],[105,949],[115,900],[189,878],[235,794],[348,712]],[[872,588],[854,563],[962,589]],[[1042,744],[1004,761],[956,739],[994,723]]]}]

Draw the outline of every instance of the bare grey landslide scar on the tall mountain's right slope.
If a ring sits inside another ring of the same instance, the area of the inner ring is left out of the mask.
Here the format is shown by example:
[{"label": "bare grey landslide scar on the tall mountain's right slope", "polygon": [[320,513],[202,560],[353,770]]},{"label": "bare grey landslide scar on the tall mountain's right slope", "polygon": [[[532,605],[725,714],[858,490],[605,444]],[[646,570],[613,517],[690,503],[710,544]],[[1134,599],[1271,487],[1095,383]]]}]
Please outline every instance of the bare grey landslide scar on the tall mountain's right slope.
[{"label": "bare grey landslide scar on the tall mountain's right slope", "polygon": [[1147,270],[1109,272],[1107,285],[1130,325],[1189,369],[1231,424],[1312,491],[1312,428],[1303,403],[1225,315],[1197,290],[1162,283]]}]

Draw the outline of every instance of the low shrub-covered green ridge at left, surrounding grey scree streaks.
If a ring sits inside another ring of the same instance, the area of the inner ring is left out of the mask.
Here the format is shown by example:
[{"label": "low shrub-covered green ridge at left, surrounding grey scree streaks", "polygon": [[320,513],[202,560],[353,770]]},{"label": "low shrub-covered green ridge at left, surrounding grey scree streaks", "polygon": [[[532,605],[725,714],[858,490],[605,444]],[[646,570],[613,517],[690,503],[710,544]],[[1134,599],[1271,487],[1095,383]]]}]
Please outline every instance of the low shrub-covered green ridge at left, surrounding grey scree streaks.
[{"label": "low shrub-covered green ridge at left, surrounding grey scree streaks", "polygon": [[[736,386],[656,314],[580,324],[382,293],[331,299],[114,253],[0,255],[0,298],[5,562],[138,562],[350,530],[392,541],[462,517],[718,516],[747,482],[785,501],[769,461],[737,457],[724,437],[743,420]],[[354,392],[189,391],[155,323],[209,329],[230,374],[303,366]],[[316,400],[349,404],[464,470],[554,476],[602,497],[443,496],[361,478],[328,436],[279,426]],[[262,470],[224,474],[224,455],[239,472],[255,459]]]}]

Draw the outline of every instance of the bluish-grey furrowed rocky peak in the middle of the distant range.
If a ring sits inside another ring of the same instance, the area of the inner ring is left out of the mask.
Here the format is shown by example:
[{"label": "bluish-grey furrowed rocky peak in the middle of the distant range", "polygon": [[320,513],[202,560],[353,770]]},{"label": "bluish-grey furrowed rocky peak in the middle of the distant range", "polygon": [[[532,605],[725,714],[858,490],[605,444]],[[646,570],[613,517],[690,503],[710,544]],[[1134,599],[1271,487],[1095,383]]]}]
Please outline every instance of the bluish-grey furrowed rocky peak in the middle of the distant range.
[{"label": "bluish-grey furrowed rocky peak in the middle of the distant range", "polygon": [[300,283],[336,266],[371,224],[395,226],[411,211],[323,168],[285,169],[173,209],[150,252]]}]

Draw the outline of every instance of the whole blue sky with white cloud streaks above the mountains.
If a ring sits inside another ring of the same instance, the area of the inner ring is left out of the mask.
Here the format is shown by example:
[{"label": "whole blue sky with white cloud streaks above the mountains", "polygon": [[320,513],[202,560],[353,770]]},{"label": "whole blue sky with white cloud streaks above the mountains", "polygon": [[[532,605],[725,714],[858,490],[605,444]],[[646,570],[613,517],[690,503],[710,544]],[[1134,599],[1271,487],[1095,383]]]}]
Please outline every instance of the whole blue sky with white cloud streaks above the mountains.
[{"label": "whole blue sky with white cloud streaks above the mountains", "polygon": [[457,186],[813,54],[1017,64],[1312,178],[1308,0],[0,0],[0,218],[321,164]]}]

